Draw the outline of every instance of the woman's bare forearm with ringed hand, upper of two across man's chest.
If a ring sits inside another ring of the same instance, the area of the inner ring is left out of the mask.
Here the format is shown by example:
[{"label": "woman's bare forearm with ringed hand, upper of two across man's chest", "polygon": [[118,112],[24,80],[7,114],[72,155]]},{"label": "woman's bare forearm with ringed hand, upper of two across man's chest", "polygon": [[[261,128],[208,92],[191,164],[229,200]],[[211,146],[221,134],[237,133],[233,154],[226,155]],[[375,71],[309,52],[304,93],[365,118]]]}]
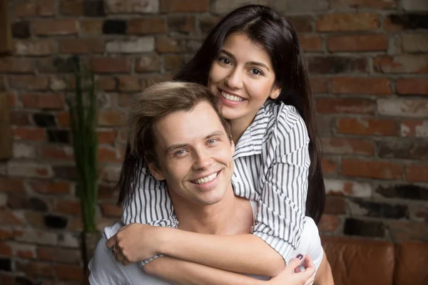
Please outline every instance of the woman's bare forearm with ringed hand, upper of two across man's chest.
[{"label": "woman's bare forearm with ringed hand, upper of two across man's chest", "polygon": [[125,264],[165,254],[183,261],[255,275],[276,276],[285,266],[280,254],[253,234],[222,236],[129,224],[106,242],[108,248],[113,248],[114,244]]}]

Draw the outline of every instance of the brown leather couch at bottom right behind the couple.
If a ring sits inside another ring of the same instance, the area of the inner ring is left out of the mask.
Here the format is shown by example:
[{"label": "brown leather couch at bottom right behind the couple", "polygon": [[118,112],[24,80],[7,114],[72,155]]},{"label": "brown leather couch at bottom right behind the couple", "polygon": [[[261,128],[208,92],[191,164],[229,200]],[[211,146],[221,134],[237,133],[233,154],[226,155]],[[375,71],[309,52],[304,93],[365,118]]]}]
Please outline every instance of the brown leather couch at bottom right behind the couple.
[{"label": "brown leather couch at bottom right behind the couple", "polygon": [[335,285],[428,285],[428,243],[322,237]]}]

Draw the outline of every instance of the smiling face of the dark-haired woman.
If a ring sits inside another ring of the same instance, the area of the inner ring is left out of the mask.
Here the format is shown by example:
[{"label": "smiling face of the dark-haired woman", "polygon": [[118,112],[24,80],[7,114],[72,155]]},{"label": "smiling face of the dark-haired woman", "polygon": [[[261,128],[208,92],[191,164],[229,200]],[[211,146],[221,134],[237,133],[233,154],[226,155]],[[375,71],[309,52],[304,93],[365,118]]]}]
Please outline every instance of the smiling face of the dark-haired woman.
[{"label": "smiling face of the dark-haired woman", "polygon": [[243,33],[225,39],[210,68],[208,88],[220,97],[225,118],[245,128],[265,100],[280,93],[269,54]]}]

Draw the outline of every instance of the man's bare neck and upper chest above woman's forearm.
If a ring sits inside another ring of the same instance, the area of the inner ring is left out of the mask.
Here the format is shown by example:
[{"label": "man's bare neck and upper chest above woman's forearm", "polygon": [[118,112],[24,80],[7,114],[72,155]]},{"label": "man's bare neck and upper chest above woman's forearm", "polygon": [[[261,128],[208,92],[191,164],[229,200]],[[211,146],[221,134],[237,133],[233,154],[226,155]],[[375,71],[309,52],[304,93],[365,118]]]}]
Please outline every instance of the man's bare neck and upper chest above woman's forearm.
[{"label": "man's bare neck and upper chest above woman's forearm", "polygon": [[170,191],[179,229],[200,234],[245,234],[253,225],[248,199],[236,197],[232,185],[223,199],[212,205],[188,202]]}]

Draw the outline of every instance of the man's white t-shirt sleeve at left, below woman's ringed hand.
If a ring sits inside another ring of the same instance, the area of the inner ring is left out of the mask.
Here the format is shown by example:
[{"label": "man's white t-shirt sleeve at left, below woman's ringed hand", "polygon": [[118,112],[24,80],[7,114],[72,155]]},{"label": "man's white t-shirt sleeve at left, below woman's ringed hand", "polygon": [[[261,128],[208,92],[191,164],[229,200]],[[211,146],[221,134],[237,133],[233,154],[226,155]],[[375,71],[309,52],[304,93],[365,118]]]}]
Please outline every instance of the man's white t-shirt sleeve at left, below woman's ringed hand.
[{"label": "man's white t-shirt sleeve at left, below woman's ringed hand", "polygon": [[89,284],[92,285],[131,285],[126,274],[113,259],[110,249],[106,247],[107,238],[103,233],[95,254],[89,261],[88,268],[91,271],[89,275]]}]

